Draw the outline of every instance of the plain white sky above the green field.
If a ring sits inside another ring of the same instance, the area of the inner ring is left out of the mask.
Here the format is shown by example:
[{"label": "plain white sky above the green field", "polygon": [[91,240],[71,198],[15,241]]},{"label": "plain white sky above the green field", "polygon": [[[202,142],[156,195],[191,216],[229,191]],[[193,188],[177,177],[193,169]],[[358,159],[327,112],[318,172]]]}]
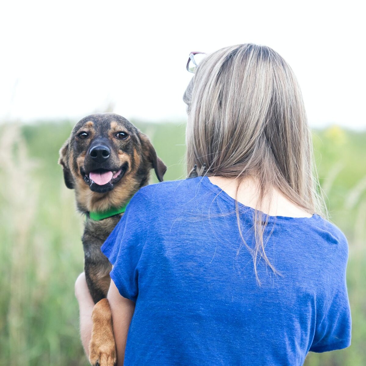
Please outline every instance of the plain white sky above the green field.
[{"label": "plain white sky above the green field", "polygon": [[[2,2],[4,3],[4,1]],[[190,51],[254,42],[299,79],[312,127],[366,127],[361,1],[6,1],[0,120],[185,120]]]}]

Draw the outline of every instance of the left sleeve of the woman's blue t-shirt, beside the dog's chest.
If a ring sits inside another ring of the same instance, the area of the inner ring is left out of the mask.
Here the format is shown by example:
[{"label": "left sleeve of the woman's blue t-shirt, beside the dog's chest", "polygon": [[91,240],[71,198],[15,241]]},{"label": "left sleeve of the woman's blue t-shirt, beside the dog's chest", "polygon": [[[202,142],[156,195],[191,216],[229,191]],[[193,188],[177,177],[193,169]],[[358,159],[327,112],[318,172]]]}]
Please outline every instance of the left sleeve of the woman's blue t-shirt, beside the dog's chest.
[{"label": "left sleeve of the woman's blue t-shirt, beside the dog's chest", "polygon": [[119,293],[134,302],[138,295],[138,264],[152,225],[149,206],[145,195],[138,191],[101,247],[113,265],[110,275]]}]

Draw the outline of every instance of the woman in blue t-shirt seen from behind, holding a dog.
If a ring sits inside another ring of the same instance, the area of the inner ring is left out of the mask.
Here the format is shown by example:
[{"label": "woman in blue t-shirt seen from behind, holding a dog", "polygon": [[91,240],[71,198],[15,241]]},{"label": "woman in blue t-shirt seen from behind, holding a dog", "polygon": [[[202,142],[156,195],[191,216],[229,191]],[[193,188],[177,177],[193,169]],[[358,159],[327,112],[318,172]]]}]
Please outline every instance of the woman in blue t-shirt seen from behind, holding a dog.
[{"label": "woman in blue t-shirt seen from behind, holding a dog", "polygon": [[[143,187],[102,247],[119,365],[293,366],[348,347],[347,240],[323,218],[291,68],[269,47],[223,48],[184,100],[203,177]],[[76,294],[89,324],[82,276]]]}]

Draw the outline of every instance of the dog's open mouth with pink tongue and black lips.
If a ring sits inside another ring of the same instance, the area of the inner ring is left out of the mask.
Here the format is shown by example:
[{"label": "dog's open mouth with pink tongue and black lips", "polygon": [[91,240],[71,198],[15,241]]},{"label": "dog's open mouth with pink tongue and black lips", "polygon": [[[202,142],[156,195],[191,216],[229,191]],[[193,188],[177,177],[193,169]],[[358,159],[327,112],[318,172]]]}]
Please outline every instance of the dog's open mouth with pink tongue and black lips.
[{"label": "dog's open mouth with pink tongue and black lips", "polygon": [[95,169],[90,172],[81,171],[83,179],[91,191],[105,193],[111,191],[119,182],[127,170],[127,164],[122,165],[118,170]]}]

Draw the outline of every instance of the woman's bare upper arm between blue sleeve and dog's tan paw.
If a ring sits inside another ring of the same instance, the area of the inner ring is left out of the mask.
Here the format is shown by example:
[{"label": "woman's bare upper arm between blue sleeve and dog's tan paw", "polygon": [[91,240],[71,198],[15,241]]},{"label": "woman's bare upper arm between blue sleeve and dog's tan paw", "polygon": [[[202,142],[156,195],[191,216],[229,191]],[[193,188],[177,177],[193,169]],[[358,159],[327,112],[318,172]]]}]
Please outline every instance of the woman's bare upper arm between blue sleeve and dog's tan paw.
[{"label": "woman's bare upper arm between blue sleeve and dog's tan paw", "polygon": [[130,327],[131,318],[135,310],[135,303],[122,297],[112,280],[107,299],[112,311],[113,333],[117,348],[117,366],[122,366],[128,328]]}]

